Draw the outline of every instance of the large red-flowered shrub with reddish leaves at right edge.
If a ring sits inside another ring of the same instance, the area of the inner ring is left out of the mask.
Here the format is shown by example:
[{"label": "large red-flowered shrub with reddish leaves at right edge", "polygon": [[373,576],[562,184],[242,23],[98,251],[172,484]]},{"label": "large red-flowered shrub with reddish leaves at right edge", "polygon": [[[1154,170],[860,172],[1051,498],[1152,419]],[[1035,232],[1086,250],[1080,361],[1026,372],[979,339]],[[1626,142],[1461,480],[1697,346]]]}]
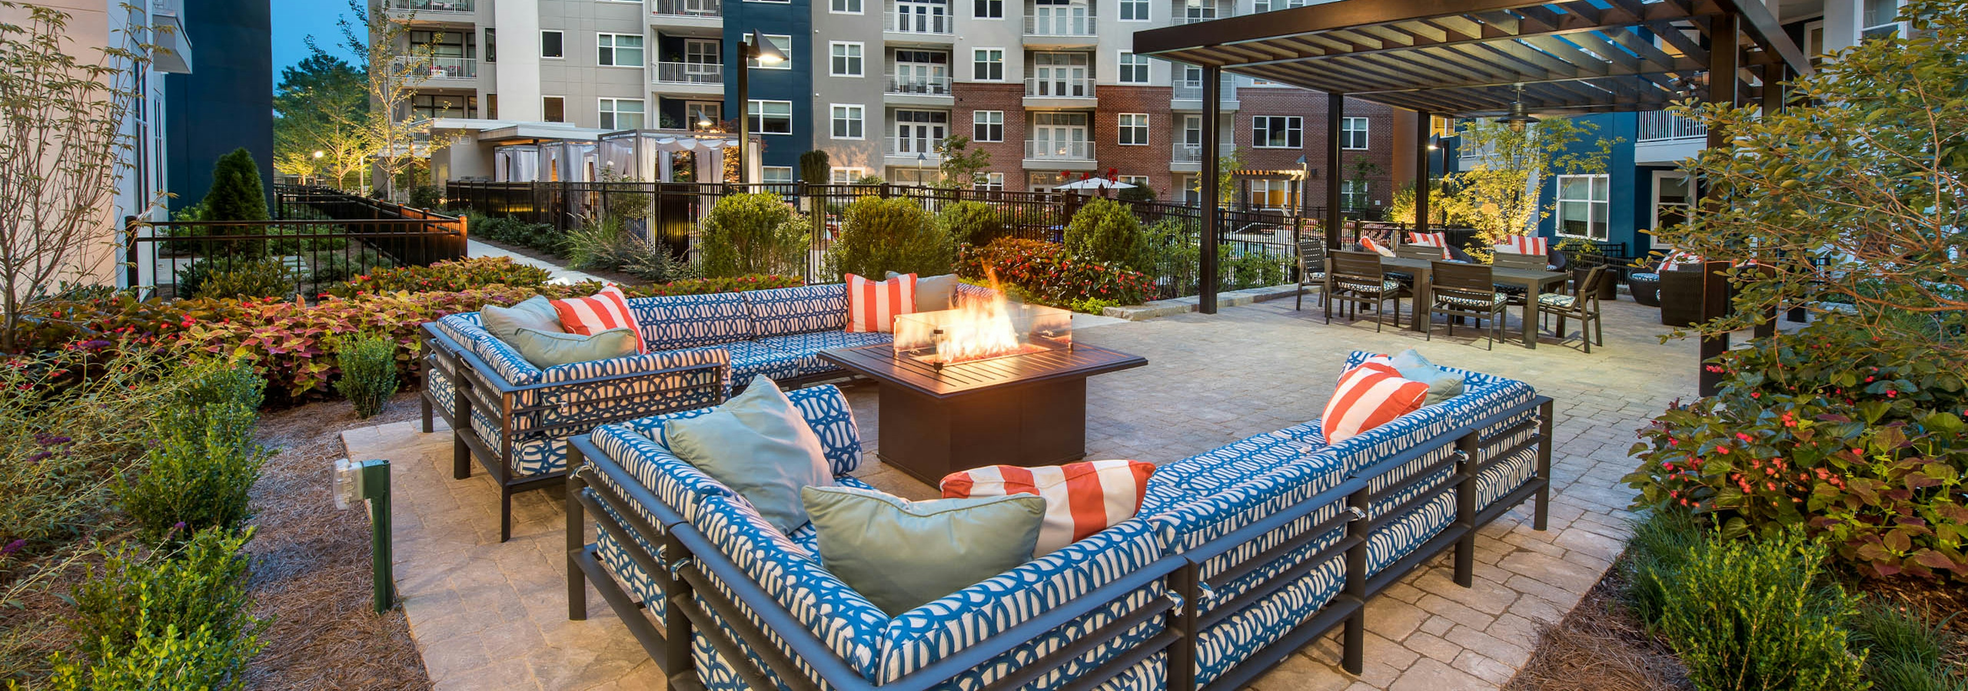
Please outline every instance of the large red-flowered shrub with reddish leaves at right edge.
[{"label": "large red-flowered shrub with reddish leaves at right edge", "polygon": [[1635,505],[1689,506],[1724,534],[1803,524],[1860,571],[1968,581],[1962,371],[1826,320],[1730,353],[1710,399],[1641,430]]}]

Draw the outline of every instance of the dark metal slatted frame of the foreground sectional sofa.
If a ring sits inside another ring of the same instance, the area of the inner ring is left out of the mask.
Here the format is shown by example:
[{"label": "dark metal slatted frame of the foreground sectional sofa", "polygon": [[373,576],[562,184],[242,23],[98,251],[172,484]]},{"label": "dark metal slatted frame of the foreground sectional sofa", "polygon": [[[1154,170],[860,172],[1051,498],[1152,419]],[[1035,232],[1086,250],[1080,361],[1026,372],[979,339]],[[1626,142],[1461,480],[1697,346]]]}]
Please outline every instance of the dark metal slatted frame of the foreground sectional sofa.
[{"label": "dark metal slatted frame of the foreground sectional sofa", "polygon": [[[1537,410],[1537,414],[1515,422],[1509,428],[1484,434],[1484,430],[1531,410]],[[1535,436],[1507,448],[1504,446],[1507,438],[1523,434],[1531,428],[1537,430]],[[1450,446],[1454,448],[1454,453],[1448,457],[1417,469],[1399,483],[1380,491],[1370,489],[1370,483],[1376,477]],[[1500,497],[1488,508],[1478,510],[1476,479],[1486,469],[1504,463],[1529,446],[1537,446],[1533,475],[1511,493]],[[1551,499],[1551,399],[1535,397],[1533,400],[1496,412],[1484,420],[1433,436],[1423,444],[1356,471],[1336,487],[1313,495],[1285,510],[1269,514],[1185,554],[1163,556],[1147,567],[1128,573],[1106,587],[1094,589],[1065,607],[1015,624],[998,636],[986,638],[901,679],[880,685],[856,673],[846,660],[840,660],[840,656],[834,654],[819,636],[807,630],[791,611],[771,599],[764,587],[744,573],[744,569],[718,552],[703,532],[681,516],[681,512],[663,505],[649,489],[642,487],[632,473],[604,455],[594,442],[588,440],[588,436],[579,436],[569,442],[569,469],[567,616],[573,620],[586,618],[586,585],[592,583],[608,607],[614,609],[614,612],[628,624],[630,632],[644,646],[649,658],[655,660],[669,677],[667,681],[671,689],[703,689],[691,658],[691,638],[693,634],[703,634],[710,646],[736,667],[744,683],[754,689],[773,689],[773,683],[769,683],[764,669],[752,662],[746,648],[756,652],[766,662],[766,667],[769,667],[795,691],[821,689],[821,685],[813,683],[813,679],[801,671],[799,662],[815,669],[815,673],[819,673],[825,681],[825,687],[830,689],[923,691],[949,681],[970,667],[982,665],[1035,636],[1065,626],[1086,612],[1122,601],[1128,593],[1134,593],[1155,579],[1163,579],[1169,595],[1126,611],[1100,630],[1078,636],[1076,642],[1067,648],[1023,665],[1017,671],[984,685],[982,689],[1017,689],[1043,673],[1057,669],[1086,650],[1112,640],[1120,632],[1147,622],[1153,616],[1167,614],[1165,628],[1157,636],[1076,677],[1065,685],[1065,689],[1092,689],[1120,671],[1134,667],[1141,660],[1167,652],[1167,689],[1222,691],[1248,685],[1252,679],[1291,656],[1291,652],[1326,634],[1334,626],[1344,626],[1340,665],[1350,673],[1360,673],[1364,665],[1368,599],[1450,548],[1454,550],[1454,581],[1456,585],[1470,587],[1476,559],[1476,530],[1494,522],[1498,516],[1527,499],[1537,501],[1531,526],[1535,530],[1545,530],[1547,505]],[[1378,520],[1366,518],[1368,506],[1376,501],[1429,481],[1431,475],[1441,469],[1452,471],[1441,487],[1391,506]],[[1368,575],[1366,559],[1370,536],[1376,530],[1399,520],[1409,508],[1427,505],[1443,493],[1456,495],[1454,522],[1382,571]],[[636,505],[646,508],[657,520],[644,520],[642,514],[632,508]],[[614,520],[608,510],[602,510],[602,506],[608,506],[616,516],[624,516],[624,520]],[[1230,554],[1238,546],[1267,534],[1293,530],[1293,522],[1319,514],[1328,506],[1342,506],[1342,510],[1336,518],[1285,536],[1285,540],[1277,546],[1232,563],[1222,573],[1202,579],[1202,567],[1210,559]],[[632,597],[600,563],[598,546],[586,542],[586,514],[592,514],[598,528],[622,546],[630,561],[634,561],[649,579],[655,581],[655,585],[663,589],[667,599],[663,620],[651,620],[651,616],[644,612],[640,599]],[[1204,585],[1222,587],[1224,583],[1289,556],[1293,550],[1328,538],[1336,532],[1342,532],[1342,538],[1332,546],[1263,579],[1261,585],[1220,603],[1210,612],[1197,612],[1197,607],[1181,607],[1181,603],[1200,603]],[[644,544],[659,546],[655,550],[657,554],[644,550]],[[1238,662],[1230,671],[1210,683],[1197,685],[1197,632],[1289,587],[1295,579],[1313,573],[1336,558],[1346,559],[1344,589],[1338,595],[1326,601],[1319,612],[1285,632],[1271,646],[1265,646],[1263,650]],[[724,597],[712,579],[724,583],[732,593],[736,593],[736,601]],[[703,595],[708,609],[697,603],[697,595]],[[783,640],[787,648],[799,656],[799,662],[785,658],[779,648],[771,644],[768,632],[752,624],[750,618],[742,616],[742,611],[750,611],[764,620],[766,628],[777,634],[779,640]],[[738,640],[732,640],[718,628],[718,618],[738,632]]]}]

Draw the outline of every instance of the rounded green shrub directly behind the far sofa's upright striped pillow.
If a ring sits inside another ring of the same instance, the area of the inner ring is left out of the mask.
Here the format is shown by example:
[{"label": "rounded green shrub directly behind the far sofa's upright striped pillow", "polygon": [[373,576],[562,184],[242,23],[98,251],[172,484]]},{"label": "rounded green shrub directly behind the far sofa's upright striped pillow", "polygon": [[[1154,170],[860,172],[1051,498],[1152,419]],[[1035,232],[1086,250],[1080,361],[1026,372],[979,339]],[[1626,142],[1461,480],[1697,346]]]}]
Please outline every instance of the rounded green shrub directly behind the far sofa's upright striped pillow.
[{"label": "rounded green shrub directly behind the far sofa's upright striped pillow", "polygon": [[949,236],[915,200],[862,196],[842,216],[840,238],[827,249],[829,275],[951,273]]}]

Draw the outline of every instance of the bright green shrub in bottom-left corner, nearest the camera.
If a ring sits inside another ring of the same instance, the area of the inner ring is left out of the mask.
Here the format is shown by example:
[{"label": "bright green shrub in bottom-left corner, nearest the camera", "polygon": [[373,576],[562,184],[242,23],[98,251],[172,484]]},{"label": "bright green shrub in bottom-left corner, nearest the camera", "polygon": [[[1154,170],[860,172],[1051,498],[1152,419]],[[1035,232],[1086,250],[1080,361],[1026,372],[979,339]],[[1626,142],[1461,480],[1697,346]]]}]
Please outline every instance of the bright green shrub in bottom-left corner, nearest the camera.
[{"label": "bright green shrub in bottom-left corner, nearest the camera", "polygon": [[81,658],[130,654],[140,638],[165,636],[167,628],[207,630],[224,640],[256,634],[264,622],[252,616],[246,591],[248,540],[252,530],[207,528],[177,550],[148,556],[132,546],[112,550],[71,593],[69,630]]}]

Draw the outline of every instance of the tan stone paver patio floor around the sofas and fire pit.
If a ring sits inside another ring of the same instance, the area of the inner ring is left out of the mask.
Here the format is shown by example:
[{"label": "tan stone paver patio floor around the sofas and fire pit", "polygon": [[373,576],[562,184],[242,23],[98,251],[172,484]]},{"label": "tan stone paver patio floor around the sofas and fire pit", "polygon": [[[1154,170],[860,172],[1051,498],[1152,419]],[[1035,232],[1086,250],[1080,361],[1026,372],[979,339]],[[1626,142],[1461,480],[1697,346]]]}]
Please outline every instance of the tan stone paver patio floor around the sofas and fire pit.
[{"label": "tan stone paver patio floor around the sofas and fire pit", "polygon": [[[1252,434],[1317,418],[1352,349],[1417,347],[1431,361],[1521,379],[1553,397],[1551,530],[1519,506],[1480,532],[1476,581],[1450,581],[1446,556],[1368,605],[1366,669],[1338,669],[1328,636],[1254,683],[1295,689],[1494,689],[1529,660],[1545,624],[1565,616],[1620,554],[1628,534],[1618,485],[1633,432],[1675,399],[1694,397],[1692,342],[1659,344],[1657,310],[1610,302],[1606,346],[1590,355],[1547,338],[1537,349],[1482,349],[1460,332],[1374,332],[1322,324],[1291,300],[1084,328],[1075,338],[1145,355],[1141,369],[1088,385],[1090,457],[1169,463]],[[874,452],[874,387],[850,387]],[[439,689],[657,689],[661,673],[600,597],[567,620],[565,516],[559,497],[514,499],[514,538],[498,542],[498,489],[451,479],[451,434],[415,422],[342,434],[350,457],[388,457],[396,483],[396,573],[403,609]],[[870,457],[858,473],[886,491],[931,499],[927,485]],[[592,534],[592,526],[588,528]]]}]

